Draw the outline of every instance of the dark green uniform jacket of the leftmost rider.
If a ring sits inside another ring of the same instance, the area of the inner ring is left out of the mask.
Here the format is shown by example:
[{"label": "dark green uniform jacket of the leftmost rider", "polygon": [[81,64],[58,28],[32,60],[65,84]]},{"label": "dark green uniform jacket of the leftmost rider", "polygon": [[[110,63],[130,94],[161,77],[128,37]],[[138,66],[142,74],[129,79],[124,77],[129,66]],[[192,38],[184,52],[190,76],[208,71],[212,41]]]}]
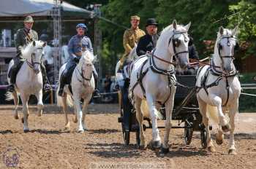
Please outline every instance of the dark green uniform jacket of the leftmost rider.
[{"label": "dark green uniform jacket of the leftmost rider", "polygon": [[17,53],[20,53],[20,48],[23,46],[26,46],[29,44],[29,42],[37,41],[38,35],[37,32],[34,30],[29,31],[29,33],[26,33],[25,28],[20,28],[17,31],[16,39],[15,39],[15,47],[17,49]]}]

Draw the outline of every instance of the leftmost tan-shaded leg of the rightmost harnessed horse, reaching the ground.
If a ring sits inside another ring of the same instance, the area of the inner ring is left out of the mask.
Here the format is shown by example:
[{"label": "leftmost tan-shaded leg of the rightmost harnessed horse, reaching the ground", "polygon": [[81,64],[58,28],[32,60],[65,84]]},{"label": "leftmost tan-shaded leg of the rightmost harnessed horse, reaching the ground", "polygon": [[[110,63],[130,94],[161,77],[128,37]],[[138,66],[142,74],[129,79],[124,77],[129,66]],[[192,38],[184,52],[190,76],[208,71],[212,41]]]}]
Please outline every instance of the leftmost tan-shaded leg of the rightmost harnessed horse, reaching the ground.
[{"label": "leftmost tan-shaded leg of the rightmost harnessed horse, reaching the ground", "polygon": [[200,114],[203,117],[203,125],[206,127],[208,151],[215,152],[214,144],[212,143],[212,140],[211,140],[211,131],[210,131],[209,122],[208,122],[209,119],[207,117],[207,103],[201,100],[199,96],[197,96],[197,101],[198,101]]}]

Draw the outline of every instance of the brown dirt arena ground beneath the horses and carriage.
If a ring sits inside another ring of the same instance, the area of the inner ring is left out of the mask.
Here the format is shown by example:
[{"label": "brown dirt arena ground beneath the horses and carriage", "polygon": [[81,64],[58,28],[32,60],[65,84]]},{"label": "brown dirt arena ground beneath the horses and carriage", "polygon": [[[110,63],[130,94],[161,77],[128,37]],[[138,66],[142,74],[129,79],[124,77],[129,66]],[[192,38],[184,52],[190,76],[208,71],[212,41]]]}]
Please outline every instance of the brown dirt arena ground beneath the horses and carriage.
[{"label": "brown dirt arena ground beneath the horses and carriage", "polygon": [[[94,108],[105,111],[111,108],[109,105],[95,106],[89,111]],[[51,112],[43,114],[42,117],[31,112],[31,132],[23,133],[23,125],[20,119],[13,118],[10,106],[0,109],[0,168],[7,168],[2,157],[8,148],[18,151],[19,162],[16,168],[107,168],[107,165],[138,168],[141,164],[158,164],[159,168],[256,166],[256,114],[239,114],[235,135],[238,149],[236,156],[227,154],[228,135],[225,135],[224,144],[217,146],[217,152],[208,153],[201,149],[199,133],[195,133],[192,144],[186,146],[183,130],[176,129],[171,130],[170,153],[159,157],[150,149],[135,149],[135,134],[132,134],[132,145],[124,146],[121,127],[117,122],[118,114],[115,113],[116,107],[113,107],[114,112],[88,114],[86,122],[89,130],[83,134],[75,132],[76,124],[73,122],[70,133],[62,131],[64,115]],[[21,115],[20,113],[20,117]],[[69,119],[71,120],[71,114]],[[149,141],[151,130],[146,130],[146,136]]]}]

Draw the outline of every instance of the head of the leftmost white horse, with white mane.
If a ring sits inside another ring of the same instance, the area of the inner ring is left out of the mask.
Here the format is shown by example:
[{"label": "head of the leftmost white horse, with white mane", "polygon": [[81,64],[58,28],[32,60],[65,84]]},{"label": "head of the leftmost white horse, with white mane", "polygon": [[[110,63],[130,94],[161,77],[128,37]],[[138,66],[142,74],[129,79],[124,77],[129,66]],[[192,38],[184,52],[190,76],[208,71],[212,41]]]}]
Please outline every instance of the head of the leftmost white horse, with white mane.
[{"label": "head of the leftmost white horse, with white mane", "polygon": [[21,50],[21,57],[26,59],[29,67],[33,69],[36,74],[39,74],[40,64],[42,62],[42,49],[46,43],[42,41],[33,41]]}]

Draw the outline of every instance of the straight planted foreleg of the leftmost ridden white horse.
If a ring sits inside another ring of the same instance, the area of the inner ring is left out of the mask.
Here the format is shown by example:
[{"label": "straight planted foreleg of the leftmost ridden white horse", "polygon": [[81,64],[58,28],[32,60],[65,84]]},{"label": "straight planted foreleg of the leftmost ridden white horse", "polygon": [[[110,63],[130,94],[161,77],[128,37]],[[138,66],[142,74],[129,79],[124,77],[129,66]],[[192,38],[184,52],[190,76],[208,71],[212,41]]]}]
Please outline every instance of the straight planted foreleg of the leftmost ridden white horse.
[{"label": "straight planted foreleg of the leftmost ridden white horse", "polygon": [[29,127],[28,127],[28,118],[29,118],[29,107],[28,107],[28,101],[29,101],[29,95],[26,95],[24,93],[21,94],[21,101],[22,101],[22,106],[23,106],[23,131],[29,132]]}]

